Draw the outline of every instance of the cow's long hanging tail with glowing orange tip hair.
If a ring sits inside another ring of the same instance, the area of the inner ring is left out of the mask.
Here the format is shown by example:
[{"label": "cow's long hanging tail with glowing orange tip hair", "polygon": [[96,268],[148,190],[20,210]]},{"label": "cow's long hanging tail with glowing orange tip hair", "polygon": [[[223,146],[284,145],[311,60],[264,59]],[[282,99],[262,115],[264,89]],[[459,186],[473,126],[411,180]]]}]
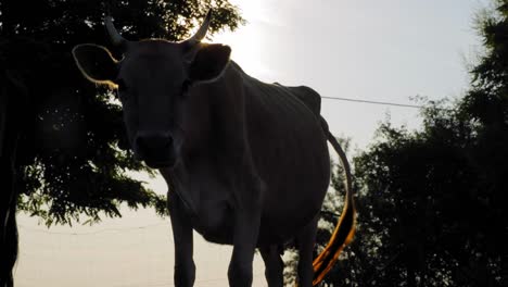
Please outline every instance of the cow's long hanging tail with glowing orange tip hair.
[{"label": "cow's long hanging tail with glowing orange tip hair", "polygon": [[348,245],[355,235],[356,228],[356,210],[353,200],[352,175],[350,162],[347,161],[344,150],[341,148],[335,137],[330,133],[327,122],[321,117],[321,126],[327,135],[328,141],[339,154],[342,166],[345,173],[345,202],[344,210],[339,219],[339,222],[330,237],[325,250],[314,260],[314,280],[313,286],[318,285],[332,269],[333,264],[339,259],[341,251]]}]

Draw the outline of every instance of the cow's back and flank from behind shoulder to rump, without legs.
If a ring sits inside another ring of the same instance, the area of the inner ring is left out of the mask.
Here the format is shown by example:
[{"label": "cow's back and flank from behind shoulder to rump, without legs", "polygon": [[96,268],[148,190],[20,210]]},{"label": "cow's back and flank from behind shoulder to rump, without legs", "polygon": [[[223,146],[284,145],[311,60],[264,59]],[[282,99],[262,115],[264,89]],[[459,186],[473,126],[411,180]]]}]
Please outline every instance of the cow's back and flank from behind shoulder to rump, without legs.
[{"label": "cow's back and flank from behind shoulder to rump, without legs", "polygon": [[330,162],[319,120],[320,97],[308,87],[266,84],[233,68],[243,82],[250,149],[268,187],[261,241],[284,240],[319,212],[328,189]]}]

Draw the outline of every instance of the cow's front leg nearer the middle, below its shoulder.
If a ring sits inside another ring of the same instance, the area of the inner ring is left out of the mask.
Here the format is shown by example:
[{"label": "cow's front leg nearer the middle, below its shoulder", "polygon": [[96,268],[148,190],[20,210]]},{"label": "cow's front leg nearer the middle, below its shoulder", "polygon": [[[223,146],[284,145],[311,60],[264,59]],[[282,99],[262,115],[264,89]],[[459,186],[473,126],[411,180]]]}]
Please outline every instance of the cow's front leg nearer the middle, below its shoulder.
[{"label": "cow's front leg nearer the middle, below its shoulder", "polygon": [[229,286],[252,285],[252,262],[259,233],[263,182],[253,175],[242,178],[236,190],[233,251],[229,263]]}]

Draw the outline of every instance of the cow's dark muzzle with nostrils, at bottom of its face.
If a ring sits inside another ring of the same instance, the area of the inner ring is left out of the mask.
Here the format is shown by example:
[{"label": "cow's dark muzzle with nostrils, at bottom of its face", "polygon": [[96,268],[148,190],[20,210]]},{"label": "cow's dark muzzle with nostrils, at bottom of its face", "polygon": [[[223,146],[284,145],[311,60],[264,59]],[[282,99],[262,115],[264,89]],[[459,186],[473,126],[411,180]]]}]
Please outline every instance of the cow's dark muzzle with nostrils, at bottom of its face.
[{"label": "cow's dark muzzle with nostrils, at bottom of its face", "polygon": [[164,132],[138,132],[134,140],[134,151],[153,169],[173,167],[176,163],[174,138]]}]

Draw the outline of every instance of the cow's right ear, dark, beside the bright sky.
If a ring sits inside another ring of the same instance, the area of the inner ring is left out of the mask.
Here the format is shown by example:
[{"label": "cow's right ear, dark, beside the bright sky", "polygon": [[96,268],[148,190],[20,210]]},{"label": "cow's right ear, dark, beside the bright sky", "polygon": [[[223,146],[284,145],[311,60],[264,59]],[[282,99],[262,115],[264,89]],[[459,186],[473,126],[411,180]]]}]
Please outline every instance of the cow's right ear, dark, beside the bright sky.
[{"label": "cow's right ear, dark, beside the bright sky", "polygon": [[218,78],[229,62],[231,48],[220,43],[203,45],[195,52],[189,70],[193,82],[213,82]]}]

